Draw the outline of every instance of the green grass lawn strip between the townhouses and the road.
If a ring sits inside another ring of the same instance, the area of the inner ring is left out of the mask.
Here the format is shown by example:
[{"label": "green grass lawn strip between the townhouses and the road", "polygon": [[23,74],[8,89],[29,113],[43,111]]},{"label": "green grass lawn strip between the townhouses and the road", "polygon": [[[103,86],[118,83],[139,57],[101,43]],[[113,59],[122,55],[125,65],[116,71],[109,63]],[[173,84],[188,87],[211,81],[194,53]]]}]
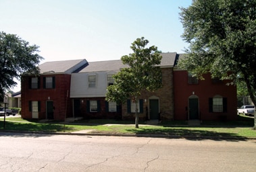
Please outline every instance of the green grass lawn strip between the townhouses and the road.
[{"label": "green grass lawn strip between the townhouses and the road", "polygon": [[[111,124],[111,125],[105,125]],[[122,125],[119,125],[122,124]],[[92,133],[105,134],[161,134],[172,136],[218,136],[240,139],[256,138],[253,130],[253,118],[238,116],[234,122],[203,122],[201,126],[188,126],[184,121],[163,122],[159,125],[134,127],[134,121],[117,120],[80,120],[75,123],[61,124],[59,121],[39,122],[22,118],[6,118],[5,130],[23,130],[31,132],[74,132],[93,130]],[[0,119],[0,130],[3,130],[3,118]]]}]

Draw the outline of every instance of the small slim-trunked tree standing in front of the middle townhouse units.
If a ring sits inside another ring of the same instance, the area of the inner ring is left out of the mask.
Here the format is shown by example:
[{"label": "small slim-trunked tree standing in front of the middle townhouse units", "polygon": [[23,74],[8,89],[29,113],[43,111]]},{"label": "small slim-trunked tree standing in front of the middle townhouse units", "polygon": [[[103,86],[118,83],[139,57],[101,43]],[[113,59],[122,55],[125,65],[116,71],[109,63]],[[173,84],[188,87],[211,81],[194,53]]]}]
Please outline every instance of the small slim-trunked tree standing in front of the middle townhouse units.
[{"label": "small slim-trunked tree standing in front of the middle townhouse units", "polygon": [[138,128],[138,97],[142,91],[155,91],[161,87],[161,55],[156,46],[146,47],[148,40],[137,38],[130,48],[133,53],[122,56],[128,67],[113,75],[115,82],[107,87],[107,101],[124,103],[132,99],[135,103],[135,127]]}]

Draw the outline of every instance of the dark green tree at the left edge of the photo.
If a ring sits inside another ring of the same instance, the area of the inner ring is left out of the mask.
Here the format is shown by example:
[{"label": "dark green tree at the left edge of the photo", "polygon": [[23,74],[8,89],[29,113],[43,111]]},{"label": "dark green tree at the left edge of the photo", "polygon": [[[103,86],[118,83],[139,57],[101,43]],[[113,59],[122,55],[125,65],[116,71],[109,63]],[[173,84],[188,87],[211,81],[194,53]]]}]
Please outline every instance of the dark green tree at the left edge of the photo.
[{"label": "dark green tree at the left edge of the photo", "polygon": [[39,73],[37,66],[43,57],[37,54],[38,48],[15,34],[0,32],[0,97],[17,85],[14,78],[20,79],[22,73]]}]

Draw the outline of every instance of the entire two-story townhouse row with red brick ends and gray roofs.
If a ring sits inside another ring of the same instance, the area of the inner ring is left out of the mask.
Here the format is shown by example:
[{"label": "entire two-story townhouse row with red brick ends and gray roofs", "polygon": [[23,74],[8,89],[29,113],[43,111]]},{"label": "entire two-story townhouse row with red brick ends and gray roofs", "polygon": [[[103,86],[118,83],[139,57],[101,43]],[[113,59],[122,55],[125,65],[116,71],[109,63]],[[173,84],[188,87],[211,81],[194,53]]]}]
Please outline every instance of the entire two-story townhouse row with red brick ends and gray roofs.
[{"label": "entire two-story townhouse row with red brick ends and gray roofs", "polygon": [[[139,97],[143,120],[235,120],[236,87],[227,81],[198,81],[178,69],[183,54],[161,53],[163,87]],[[128,67],[122,60],[69,60],[41,64],[39,77],[22,76],[22,118],[64,120],[68,117],[134,119],[135,104],[105,101],[113,75]]]}]

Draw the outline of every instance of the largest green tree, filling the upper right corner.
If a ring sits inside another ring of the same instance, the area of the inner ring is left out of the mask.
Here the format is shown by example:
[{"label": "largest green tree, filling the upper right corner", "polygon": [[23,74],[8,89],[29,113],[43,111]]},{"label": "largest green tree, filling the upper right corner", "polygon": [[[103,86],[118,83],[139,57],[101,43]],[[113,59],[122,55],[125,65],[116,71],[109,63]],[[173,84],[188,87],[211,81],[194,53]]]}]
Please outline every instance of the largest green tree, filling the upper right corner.
[{"label": "largest green tree, filling the upper right corner", "polygon": [[180,9],[182,38],[190,46],[179,66],[198,77],[211,73],[232,83],[245,81],[256,105],[256,1],[193,0]]}]

